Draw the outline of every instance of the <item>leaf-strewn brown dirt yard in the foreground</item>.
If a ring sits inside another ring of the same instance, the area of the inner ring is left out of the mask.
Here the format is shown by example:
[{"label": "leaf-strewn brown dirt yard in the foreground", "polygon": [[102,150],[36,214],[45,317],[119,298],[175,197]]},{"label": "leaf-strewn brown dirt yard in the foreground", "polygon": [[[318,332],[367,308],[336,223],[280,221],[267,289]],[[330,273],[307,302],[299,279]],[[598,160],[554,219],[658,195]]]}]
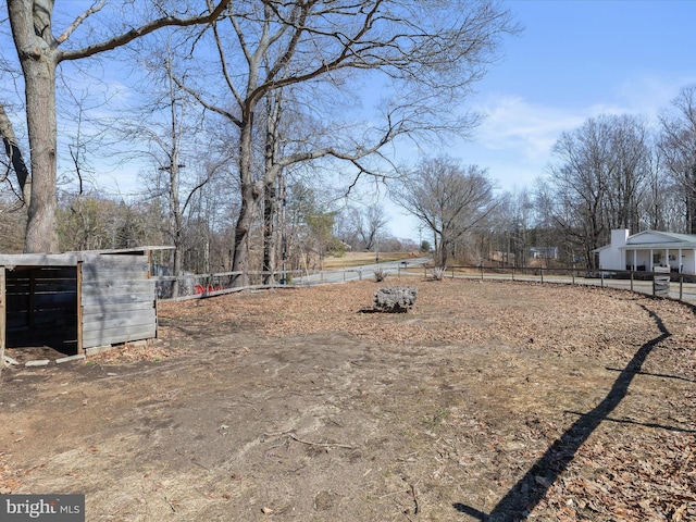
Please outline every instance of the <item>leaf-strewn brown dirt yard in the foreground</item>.
[{"label": "leaf-strewn brown dirt yard in the foreground", "polygon": [[0,493],[88,521],[696,520],[696,322],[621,290],[389,278],[162,304],[7,369]]}]

